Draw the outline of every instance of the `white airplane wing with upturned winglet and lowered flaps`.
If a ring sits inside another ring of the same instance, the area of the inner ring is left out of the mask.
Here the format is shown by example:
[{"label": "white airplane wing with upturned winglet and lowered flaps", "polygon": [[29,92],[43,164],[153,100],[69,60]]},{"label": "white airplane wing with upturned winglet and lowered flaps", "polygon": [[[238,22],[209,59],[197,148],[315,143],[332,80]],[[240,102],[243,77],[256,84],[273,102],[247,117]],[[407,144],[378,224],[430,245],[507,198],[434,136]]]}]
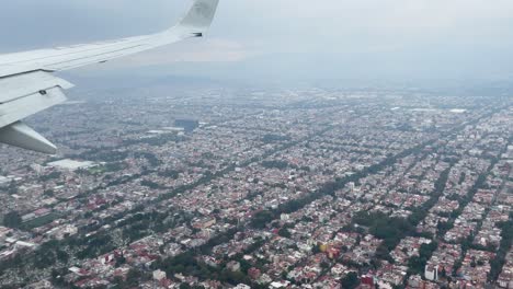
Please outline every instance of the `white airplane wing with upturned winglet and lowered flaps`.
[{"label": "white airplane wing with upturned winglet and lowered flaps", "polygon": [[66,101],[64,90],[73,84],[52,72],[137,54],[191,37],[202,37],[210,26],[219,0],[194,0],[173,27],[137,37],[54,49],[0,55],[0,142],[43,153],[57,148],[23,124],[30,115]]}]

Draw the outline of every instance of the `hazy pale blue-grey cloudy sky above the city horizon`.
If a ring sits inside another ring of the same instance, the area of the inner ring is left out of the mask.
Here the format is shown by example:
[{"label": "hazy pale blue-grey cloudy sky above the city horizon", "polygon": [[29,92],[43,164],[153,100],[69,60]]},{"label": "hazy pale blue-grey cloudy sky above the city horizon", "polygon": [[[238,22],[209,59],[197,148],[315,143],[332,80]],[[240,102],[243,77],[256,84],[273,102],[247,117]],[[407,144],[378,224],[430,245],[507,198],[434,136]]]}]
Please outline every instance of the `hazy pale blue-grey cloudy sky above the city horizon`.
[{"label": "hazy pale blue-grey cloudy sky above the city horizon", "polygon": [[[153,33],[189,0],[0,4],[0,53]],[[513,77],[511,0],[220,0],[206,38],[110,62],[213,79],[501,80]],[[77,73],[95,73],[98,67]]]}]

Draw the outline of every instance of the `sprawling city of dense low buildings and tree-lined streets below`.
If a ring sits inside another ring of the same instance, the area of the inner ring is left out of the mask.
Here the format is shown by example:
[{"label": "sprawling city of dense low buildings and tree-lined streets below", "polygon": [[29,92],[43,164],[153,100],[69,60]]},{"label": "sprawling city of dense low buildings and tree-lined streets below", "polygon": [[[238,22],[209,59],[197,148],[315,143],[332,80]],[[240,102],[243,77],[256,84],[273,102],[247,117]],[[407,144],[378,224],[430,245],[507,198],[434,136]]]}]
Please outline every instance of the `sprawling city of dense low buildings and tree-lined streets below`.
[{"label": "sprawling city of dense low buildings and tree-lined streets below", "polygon": [[1,288],[512,288],[513,99],[78,91],[0,150]]}]

